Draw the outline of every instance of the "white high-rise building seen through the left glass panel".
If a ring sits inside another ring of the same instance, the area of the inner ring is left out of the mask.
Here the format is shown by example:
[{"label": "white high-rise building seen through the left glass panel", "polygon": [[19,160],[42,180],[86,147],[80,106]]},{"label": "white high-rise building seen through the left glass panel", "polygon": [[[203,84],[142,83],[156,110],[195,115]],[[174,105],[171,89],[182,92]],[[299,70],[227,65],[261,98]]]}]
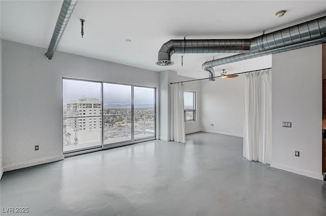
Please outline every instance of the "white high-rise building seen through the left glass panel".
[{"label": "white high-rise building seen through the left glass panel", "polygon": [[101,141],[101,101],[82,97],[64,110],[64,145],[94,145]]}]

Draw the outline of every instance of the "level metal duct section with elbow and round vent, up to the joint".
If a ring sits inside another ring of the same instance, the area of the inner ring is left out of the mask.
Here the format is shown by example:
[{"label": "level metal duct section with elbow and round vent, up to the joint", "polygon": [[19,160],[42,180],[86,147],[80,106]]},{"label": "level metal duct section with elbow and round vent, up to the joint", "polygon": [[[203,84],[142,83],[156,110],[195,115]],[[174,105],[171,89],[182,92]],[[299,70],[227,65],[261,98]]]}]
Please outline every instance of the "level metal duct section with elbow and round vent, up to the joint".
[{"label": "level metal duct section with elbow and round vent, up to the joint", "polygon": [[174,53],[249,53],[250,40],[170,40],[158,51],[156,65],[173,65]]}]

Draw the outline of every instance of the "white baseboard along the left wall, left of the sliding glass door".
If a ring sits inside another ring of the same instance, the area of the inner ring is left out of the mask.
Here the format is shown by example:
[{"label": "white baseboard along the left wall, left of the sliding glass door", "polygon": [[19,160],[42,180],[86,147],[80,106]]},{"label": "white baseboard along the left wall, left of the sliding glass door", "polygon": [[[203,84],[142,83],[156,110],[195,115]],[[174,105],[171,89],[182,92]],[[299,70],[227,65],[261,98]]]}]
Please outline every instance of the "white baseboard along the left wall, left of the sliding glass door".
[{"label": "white baseboard along the left wall, left of the sliding glass door", "polygon": [[15,164],[9,164],[9,165],[4,166],[4,172],[21,169],[21,168],[26,168],[26,167],[32,167],[32,166],[36,166],[36,165],[40,165],[40,164],[46,164],[46,163],[55,162],[55,161],[61,161],[64,159],[65,159],[65,157],[63,155],[58,155],[58,156],[50,156],[50,157],[34,159],[34,160],[30,160],[30,161],[19,162],[19,163],[15,163]]}]

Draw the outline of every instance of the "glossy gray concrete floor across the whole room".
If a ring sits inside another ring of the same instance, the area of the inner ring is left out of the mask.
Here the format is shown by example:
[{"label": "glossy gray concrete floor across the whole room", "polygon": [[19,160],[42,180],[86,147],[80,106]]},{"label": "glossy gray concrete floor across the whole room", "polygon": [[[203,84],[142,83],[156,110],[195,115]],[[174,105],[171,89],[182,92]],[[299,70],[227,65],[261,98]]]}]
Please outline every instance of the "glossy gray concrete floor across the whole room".
[{"label": "glossy gray concrete floor across the whole room", "polygon": [[[17,215],[326,215],[326,182],[242,158],[242,139],[195,133],[4,173]],[[2,215],[15,215],[2,213]]]}]

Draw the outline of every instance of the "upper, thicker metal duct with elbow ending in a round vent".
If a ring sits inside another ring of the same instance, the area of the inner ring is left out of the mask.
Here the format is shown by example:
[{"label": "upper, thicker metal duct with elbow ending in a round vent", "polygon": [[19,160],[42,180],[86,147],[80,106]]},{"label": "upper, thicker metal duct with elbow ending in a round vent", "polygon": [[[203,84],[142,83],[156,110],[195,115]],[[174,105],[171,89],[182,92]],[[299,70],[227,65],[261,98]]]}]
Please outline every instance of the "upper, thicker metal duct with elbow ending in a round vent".
[{"label": "upper, thicker metal duct with elbow ending in a round vent", "polygon": [[318,39],[325,33],[326,16],[252,39],[170,40],[159,50],[156,65],[173,65],[174,53],[254,53]]}]

